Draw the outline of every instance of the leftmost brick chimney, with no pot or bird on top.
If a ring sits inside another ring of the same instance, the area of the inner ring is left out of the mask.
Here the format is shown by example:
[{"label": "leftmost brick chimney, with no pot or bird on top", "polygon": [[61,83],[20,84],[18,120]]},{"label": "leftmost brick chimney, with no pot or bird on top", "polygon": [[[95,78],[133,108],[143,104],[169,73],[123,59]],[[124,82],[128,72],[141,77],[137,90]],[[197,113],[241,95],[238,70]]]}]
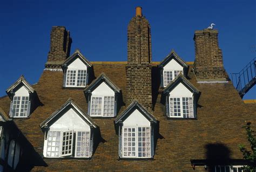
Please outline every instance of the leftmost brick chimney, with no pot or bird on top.
[{"label": "leftmost brick chimney, with no pot or bird on top", "polygon": [[72,39],[64,26],[52,26],[51,46],[45,68],[60,68],[70,55]]}]

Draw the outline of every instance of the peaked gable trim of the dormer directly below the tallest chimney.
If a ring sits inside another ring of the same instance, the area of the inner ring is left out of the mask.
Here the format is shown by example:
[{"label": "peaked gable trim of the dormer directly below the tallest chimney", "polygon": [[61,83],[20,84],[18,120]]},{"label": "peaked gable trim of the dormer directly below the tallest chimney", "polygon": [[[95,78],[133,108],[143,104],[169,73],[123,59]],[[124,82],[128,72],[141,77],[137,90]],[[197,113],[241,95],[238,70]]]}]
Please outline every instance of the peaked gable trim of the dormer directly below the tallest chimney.
[{"label": "peaked gable trim of the dormer directly below the tallest chimney", "polygon": [[139,104],[139,102],[136,99],[133,100],[133,102],[120,114],[120,116],[118,116],[116,120],[114,120],[114,123],[123,123],[136,109],[142,115],[144,115],[147,120],[149,120],[150,122],[157,123],[156,117],[154,117],[150,112],[148,112],[145,107]]}]

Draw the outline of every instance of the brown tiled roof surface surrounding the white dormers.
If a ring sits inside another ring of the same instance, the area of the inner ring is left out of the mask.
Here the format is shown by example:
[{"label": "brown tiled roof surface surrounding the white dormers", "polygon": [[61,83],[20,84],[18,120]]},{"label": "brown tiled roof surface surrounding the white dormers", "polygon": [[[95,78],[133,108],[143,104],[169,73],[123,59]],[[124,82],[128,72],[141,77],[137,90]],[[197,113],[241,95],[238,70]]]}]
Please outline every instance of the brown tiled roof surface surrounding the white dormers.
[{"label": "brown tiled roof surface surrounding the white dormers", "polygon": [[[95,76],[104,72],[120,90],[126,100],[125,64],[115,62],[92,63]],[[190,66],[191,67],[191,66]],[[156,66],[152,67],[157,68]],[[153,74],[156,76],[156,74]],[[160,76],[159,76],[160,77]],[[119,160],[118,135],[114,129],[115,119],[93,118],[100,128],[104,142],[100,142],[90,160],[82,159],[44,159],[47,167],[34,167],[33,171],[193,171],[191,159],[207,159],[211,156],[212,145],[223,145],[231,159],[242,159],[240,143],[249,146],[246,132],[242,126],[251,121],[256,123],[255,108],[247,108],[232,83],[199,84],[193,73],[188,73],[201,95],[198,100],[197,120],[169,120],[165,106],[160,103],[161,94],[153,97],[153,115],[159,121],[159,135],[153,160]],[[155,80],[155,78],[152,78]],[[156,79],[157,80],[157,79]],[[83,90],[63,88],[62,71],[43,71],[37,85],[42,102],[27,119],[14,119],[16,125],[30,141],[35,150],[43,155],[44,133],[39,127],[45,119],[61,107],[70,97],[84,112],[87,102]],[[159,86],[159,85],[158,85]],[[154,89],[157,92],[158,89]],[[126,106],[130,102],[125,102]],[[0,98],[0,107],[9,112],[10,99]],[[123,106],[120,111],[125,109]],[[117,118],[118,118],[117,116]],[[203,167],[196,167],[203,170]]]}]

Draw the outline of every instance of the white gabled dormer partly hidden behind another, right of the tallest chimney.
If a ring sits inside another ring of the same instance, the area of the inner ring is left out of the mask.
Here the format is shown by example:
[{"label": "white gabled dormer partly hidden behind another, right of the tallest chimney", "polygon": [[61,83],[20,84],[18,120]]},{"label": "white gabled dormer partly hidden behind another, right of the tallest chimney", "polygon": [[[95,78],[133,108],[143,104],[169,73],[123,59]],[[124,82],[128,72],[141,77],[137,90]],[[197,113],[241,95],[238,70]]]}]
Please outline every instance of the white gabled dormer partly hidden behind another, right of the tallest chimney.
[{"label": "white gabled dormer partly hidden behind another, right of the tallest chimney", "polygon": [[186,75],[188,66],[174,50],[158,66],[161,74],[161,87],[166,87],[179,73]]}]

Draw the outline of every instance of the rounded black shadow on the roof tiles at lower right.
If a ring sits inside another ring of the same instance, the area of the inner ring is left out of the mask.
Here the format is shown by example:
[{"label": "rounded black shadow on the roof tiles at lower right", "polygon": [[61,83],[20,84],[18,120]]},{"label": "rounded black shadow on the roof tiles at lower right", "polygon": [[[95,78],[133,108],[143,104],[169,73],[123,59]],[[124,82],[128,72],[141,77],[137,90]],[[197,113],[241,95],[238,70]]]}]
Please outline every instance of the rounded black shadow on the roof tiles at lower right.
[{"label": "rounded black shadow on the roof tiles at lower right", "polygon": [[215,165],[228,164],[230,149],[221,143],[208,144],[205,146],[208,164],[207,170],[215,172]]}]

